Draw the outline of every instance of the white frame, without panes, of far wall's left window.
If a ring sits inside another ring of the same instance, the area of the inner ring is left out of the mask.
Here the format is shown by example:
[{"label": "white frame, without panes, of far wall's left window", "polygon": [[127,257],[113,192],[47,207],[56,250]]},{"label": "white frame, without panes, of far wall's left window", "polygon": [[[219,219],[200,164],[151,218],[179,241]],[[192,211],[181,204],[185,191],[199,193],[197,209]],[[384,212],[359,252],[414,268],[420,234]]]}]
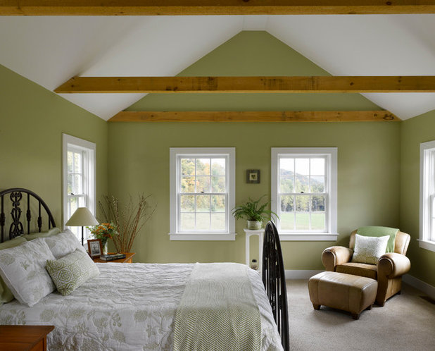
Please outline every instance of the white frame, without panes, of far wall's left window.
[{"label": "white frame, without panes, of far wall's left window", "polygon": [[[178,207],[178,159],[181,157],[216,157],[227,158],[227,230],[225,232],[179,232]],[[170,148],[170,240],[236,240],[236,221],[231,210],[235,206],[236,197],[236,149],[234,147],[171,147]]]}]

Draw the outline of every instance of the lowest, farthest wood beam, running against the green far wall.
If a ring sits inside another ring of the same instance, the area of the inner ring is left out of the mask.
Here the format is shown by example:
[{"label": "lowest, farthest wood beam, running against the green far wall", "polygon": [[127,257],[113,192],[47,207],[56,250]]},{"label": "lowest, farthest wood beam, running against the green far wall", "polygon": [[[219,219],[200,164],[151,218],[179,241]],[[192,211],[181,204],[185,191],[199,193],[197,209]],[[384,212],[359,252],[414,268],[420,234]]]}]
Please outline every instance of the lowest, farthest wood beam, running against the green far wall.
[{"label": "lowest, farthest wood beam, running against the green far wall", "polygon": [[401,121],[390,111],[121,111],[109,122]]}]

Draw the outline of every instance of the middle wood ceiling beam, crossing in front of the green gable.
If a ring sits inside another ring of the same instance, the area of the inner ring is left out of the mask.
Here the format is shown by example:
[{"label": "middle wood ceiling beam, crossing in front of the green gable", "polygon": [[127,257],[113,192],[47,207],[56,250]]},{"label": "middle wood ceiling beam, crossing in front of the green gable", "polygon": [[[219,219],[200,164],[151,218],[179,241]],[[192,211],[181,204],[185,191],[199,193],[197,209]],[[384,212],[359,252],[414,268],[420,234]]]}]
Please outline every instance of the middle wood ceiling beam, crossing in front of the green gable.
[{"label": "middle wood ceiling beam, crossing in front of the green gable", "polygon": [[75,77],[57,93],[435,92],[435,75],[317,77]]}]

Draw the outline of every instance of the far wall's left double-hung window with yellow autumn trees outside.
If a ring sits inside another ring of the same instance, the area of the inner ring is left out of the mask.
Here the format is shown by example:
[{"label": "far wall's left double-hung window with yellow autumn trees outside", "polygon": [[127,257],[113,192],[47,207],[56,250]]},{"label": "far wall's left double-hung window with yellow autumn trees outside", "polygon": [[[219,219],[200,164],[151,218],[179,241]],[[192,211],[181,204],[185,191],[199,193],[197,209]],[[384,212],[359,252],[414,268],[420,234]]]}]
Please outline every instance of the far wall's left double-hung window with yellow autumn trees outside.
[{"label": "far wall's left double-hung window with yellow autumn trees outside", "polygon": [[170,149],[170,240],[234,240],[235,149]]}]

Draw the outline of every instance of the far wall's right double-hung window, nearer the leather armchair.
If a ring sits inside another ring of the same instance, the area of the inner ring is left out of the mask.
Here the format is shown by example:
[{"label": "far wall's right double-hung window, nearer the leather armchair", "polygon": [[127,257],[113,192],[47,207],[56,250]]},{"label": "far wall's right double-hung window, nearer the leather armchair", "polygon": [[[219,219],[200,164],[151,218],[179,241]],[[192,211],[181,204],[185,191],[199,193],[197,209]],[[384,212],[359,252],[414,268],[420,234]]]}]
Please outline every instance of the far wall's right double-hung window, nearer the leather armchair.
[{"label": "far wall's right double-hung window, nearer the leather armchair", "polygon": [[272,211],[282,240],[336,240],[335,147],[272,148]]}]

